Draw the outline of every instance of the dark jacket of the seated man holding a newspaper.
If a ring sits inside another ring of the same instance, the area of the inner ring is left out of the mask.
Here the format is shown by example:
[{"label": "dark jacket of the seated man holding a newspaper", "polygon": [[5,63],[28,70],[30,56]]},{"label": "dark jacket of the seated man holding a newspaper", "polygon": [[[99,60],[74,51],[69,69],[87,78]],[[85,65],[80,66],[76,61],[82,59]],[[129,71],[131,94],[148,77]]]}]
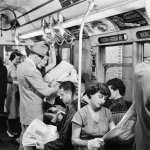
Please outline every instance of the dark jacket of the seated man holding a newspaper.
[{"label": "dark jacket of the seated man holding a newspaper", "polygon": [[57,126],[59,138],[44,145],[44,150],[73,150],[71,143],[72,124],[71,120],[77,111],[77,100],[72,103],[70,110],[66,111],[63,119]]}]

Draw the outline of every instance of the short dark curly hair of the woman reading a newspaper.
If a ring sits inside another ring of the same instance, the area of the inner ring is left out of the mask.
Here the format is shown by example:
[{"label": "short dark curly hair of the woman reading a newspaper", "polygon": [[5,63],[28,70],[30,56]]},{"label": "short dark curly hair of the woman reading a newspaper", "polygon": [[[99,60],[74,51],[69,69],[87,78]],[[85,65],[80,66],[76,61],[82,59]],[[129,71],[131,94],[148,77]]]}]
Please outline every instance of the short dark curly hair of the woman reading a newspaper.
[{"label": "short dark curly hair of the woman reading a newspaper", "polygon": [[102,95],[106,96],[107,98],[110,96],[110,90],[105,83],[97,83],[96,85],[91,85],[87,88],[86,93],[88,98],[91,98],[91,95],[100,92]]}]

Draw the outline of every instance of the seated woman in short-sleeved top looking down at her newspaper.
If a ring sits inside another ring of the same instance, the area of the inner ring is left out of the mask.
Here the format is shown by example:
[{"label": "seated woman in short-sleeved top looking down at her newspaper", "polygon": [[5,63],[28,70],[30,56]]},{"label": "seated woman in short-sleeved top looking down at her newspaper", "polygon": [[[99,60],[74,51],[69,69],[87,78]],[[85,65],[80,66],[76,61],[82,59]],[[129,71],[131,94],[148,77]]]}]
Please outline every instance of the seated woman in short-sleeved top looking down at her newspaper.
[{"label": "seated woman in short-sleeved top looking down at her newspaper", "polygon": [[97,83],[87,89],[89,104],[77,111],[72,119],[72,143],[80,150],[103,147],[102,136],[115,127],[109,109],[103,107],[110,91],[106,84]]}]

